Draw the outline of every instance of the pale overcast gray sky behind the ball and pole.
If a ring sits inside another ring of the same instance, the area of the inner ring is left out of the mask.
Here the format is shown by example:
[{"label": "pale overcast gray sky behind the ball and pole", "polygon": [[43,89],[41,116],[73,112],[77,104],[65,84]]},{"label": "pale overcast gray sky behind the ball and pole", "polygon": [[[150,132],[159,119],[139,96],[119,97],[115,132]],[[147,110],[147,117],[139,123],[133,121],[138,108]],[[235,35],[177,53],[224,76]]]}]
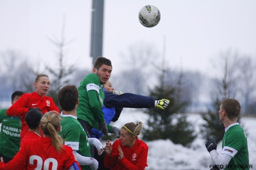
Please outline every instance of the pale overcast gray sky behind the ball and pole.
[{"label": "pale overcast gray sky behind the ball and pole", "polygon": [[[138,21],[148,4],[161,13],[153,28]],[[73,39],[65,61],[91,69],[91,8],[92,0],[0,0],[0,52],[14,49],[54,66],[56,48],[47,37],[60,39],[65,15],[65,37]],[[255,9],[255,0],[105,0],[103,56],[117,74],[126,65],[120,54],[128,54],[128,47],[149,43],[162,54],[165,37],[172,68],[208,72],[210,59],[228,49],[256,58]]]}]

